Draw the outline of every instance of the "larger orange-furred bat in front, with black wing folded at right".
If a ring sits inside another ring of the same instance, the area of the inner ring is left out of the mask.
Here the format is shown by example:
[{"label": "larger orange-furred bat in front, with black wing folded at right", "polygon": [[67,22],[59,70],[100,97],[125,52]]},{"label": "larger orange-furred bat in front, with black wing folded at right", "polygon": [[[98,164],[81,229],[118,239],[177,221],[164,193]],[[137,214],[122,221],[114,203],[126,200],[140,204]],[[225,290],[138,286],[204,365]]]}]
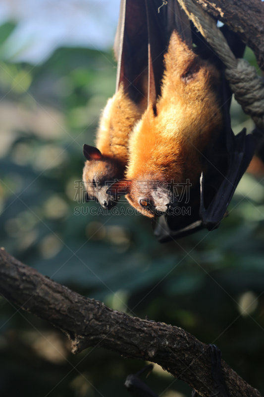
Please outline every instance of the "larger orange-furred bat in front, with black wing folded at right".
[{"label": "larger orange-furred bat in front, with black wing folded at right", "polygon": [[[224,65],[184,15],[173,0],[165,18],[158,19],[159,32],[165,32],[163,42],[170,31],[163,77],[160,81],[160,70],[152,67],[152,101],[130,135],[126,179],[107,190],[112,195],[125,194],[148,217],[165,214],[155,230],[160,241],[217,227],[255,148],[253,136],[245,130],[233,134]],[[157,35],[153,26],[148,25],[150,38]],[[154,59],[164,49],[157,48],[161,40],[150,42]],[[180,199],[186,184],[191,187],[191,213],[175,215],[175,208],[183,207]]]}]

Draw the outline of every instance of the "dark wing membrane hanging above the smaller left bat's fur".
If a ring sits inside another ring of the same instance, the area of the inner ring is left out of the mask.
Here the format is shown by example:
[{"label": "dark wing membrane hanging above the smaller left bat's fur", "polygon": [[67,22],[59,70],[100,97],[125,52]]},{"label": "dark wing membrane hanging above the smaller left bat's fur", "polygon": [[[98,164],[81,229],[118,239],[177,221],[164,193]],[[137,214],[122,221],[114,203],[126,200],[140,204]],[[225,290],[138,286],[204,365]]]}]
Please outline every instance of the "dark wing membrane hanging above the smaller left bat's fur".
[{"label": "dark wing membrane hanging above the smaller left bat's fur", "polygon": [[137,103],[146,95],[144,76],[148,74],[148,29],[144,0],[121,0],[114,42],[117,59],[116,91],[123,83],[125,92]]}]

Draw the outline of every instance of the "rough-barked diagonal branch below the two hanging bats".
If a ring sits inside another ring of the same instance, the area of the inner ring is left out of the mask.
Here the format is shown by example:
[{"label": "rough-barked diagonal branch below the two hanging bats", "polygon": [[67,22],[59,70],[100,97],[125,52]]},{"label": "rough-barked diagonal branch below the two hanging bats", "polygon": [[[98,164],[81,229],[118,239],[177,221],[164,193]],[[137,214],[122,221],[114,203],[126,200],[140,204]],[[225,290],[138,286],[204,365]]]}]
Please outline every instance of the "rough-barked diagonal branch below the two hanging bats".
[{"label": "rough-barked diagonal branch below the two hanging bats", "polygon": [[[195,388],[212,391],[207,345],[181,328],[132,318],[41,275],[0,250],[0,293],[24,310],[48,321],[72,340],[72,352],[101,346],[129,358],[149,360]],[[223,360],[231,397],[260,397]]]}]

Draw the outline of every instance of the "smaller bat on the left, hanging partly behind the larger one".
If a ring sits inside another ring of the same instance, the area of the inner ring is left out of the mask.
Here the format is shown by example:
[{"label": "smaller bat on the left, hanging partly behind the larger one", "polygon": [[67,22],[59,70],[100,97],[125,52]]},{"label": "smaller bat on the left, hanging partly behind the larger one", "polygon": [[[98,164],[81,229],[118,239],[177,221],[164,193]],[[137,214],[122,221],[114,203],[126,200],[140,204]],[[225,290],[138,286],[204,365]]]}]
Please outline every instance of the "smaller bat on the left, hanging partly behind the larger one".
[{"label": "smaller bat on the left, hanging partly behind the larger one", "polygon": [[[148,31],[144,1],[122,0],[114,43],[118,61],[116,92],[103,110],[96,147],[84,144],[87,159],[83,182],[87,199],[107,209],[117,198],[106,194],[107,183],[123,177],[128,160],[127,142],[148,103]],[[136,23],[135,23],[136,20]]]}]

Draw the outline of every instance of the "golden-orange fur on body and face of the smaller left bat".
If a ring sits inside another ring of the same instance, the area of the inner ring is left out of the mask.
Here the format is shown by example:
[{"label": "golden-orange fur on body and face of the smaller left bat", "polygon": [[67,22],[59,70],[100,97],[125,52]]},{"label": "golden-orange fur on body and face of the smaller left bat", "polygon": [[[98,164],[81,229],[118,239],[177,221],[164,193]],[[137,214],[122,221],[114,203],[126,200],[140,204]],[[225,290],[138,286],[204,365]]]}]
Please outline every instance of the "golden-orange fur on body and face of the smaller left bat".
[{"label": "golden-orange fur on body and face of the smaller left bat", "polygon": [[[107,101],[96,137],[96,147],[101,151],[102,159],[87,160],[83,170],[83,181],[88,196],[99,199],[101,204],[102,200],[109,199],[104,188],[105,182],[123,177],[128,161],[129,134],[146,108],[147,98],[142,97],[138,104],[134,103],[124,92],[122,84],[116,94]],[[100,194],[94,188],[93,180],[100,182]]]}]

